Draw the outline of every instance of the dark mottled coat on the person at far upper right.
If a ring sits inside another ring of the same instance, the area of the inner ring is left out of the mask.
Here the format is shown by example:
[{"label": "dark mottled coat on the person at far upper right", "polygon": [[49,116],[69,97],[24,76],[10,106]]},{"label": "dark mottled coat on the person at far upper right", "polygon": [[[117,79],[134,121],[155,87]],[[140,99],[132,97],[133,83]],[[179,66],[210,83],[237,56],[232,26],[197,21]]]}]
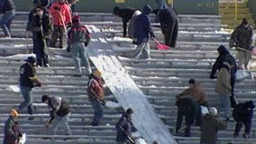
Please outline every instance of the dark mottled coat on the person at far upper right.
[{"label": "dark mottled coat on the person at far upper right", "polygon": [[243,49],[251,50],[253,46],[253,28],[250,25],[245,28],[243,24],[239,25],[233,30],[230,38],[230,47],[241,47]]}]

